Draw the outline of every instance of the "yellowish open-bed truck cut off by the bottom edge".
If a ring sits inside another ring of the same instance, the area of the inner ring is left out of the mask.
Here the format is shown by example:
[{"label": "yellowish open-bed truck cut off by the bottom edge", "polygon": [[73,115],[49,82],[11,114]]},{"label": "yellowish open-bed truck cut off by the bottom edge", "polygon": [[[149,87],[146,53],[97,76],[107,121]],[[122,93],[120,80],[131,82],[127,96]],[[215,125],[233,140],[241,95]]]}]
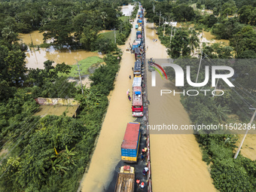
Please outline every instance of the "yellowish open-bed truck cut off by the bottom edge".
[{"label": "yellowish open-bed truck cut off by the bottom edge", "polygon": [[133,166],[121,166],[117,175],[114,192],[133,192],[135,172]]}]

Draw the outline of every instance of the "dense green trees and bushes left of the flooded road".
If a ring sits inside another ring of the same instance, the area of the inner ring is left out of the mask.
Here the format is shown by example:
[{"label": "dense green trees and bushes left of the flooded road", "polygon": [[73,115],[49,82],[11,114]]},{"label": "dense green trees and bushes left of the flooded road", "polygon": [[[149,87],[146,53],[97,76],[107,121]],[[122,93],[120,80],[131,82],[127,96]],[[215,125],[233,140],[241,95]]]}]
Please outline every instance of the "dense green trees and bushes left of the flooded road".
[{"label": "dense green trees and bushes left of the flooded road", "polygon": [[[122,27],[117,35],[117,43],[122,44],[131,25],[119,19],[117,6],[128,2],[0,1],[0,191],[78,189],[121,59],[117,45],[98,32]],[[74,70],[65,63],[53,67],[47,60],[44,69],[26,68],[27,47],[18,41],[18,32],[35,29],[44,32],[45,40],[53,38],[58,47],[109,53],[105,65],[91,75],[93,83],[84,88],[84,95],[68,82]],[[80,114],[33,116],[37,97],[75,98]]]}]

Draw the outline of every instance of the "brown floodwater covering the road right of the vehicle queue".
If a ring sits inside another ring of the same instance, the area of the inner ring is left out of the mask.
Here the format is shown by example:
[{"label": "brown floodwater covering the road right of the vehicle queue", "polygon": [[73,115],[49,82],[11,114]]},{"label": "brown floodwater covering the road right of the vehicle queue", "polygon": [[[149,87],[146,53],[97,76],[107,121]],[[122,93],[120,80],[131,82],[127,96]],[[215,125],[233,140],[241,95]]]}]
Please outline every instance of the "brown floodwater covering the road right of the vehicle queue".
[{"label": "brown floodwater covering the road right of the vehicle queue", "polygon": [[[160,41],[153,42],[154,24],[146,24],[146,58],[166,59],[166,47]],[[166,62],[166,61],[164,61]],[[149,124],[190,124],[187,112],[179,96],[160,96],[161,89],[174,90],[169,81],[157,76],[157,87],[151,87],[148,72]],[[199,145],[192,134],[155,134],[151,131],[151,168],[154,191],[216,191],[209,167],[202,160]]]}]

